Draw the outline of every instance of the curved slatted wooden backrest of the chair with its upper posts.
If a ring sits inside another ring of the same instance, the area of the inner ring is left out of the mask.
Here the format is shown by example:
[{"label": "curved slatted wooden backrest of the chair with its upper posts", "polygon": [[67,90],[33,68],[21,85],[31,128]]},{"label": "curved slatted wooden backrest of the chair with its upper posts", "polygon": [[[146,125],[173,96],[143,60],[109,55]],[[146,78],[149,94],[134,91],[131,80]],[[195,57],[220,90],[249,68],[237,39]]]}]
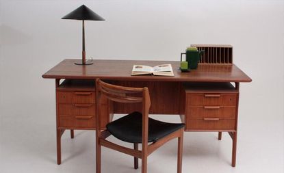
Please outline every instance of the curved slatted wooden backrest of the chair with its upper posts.
[{"label": "curved slatted wooden backrest of the chair with its upper posts", "polygon": [[[101,96],[105,96],[109,101],[118,103],[142,103],[143,131],[145,130],[148,138],[148,116],[151,105],[148,88],[130,88],[118,85],[112,85],[96,79],[96,127],[101,127],[100,101]],[[130,112],[129,112],[130,113]]]}]

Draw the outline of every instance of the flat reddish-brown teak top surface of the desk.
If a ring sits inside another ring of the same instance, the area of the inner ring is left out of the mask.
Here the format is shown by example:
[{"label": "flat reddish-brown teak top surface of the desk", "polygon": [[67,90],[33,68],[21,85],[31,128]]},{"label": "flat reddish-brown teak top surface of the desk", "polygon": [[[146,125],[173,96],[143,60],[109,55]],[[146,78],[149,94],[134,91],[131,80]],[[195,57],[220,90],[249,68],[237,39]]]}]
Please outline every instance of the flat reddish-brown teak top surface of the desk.
[{"label": "flat reddish-brown teak top surface of the desk", "polygon": [[[50,79],[113,79],[118,81],[209,81],[209,82],[250,82],[240,68],[220,64],[199,64],[196,70],[181,72],[177,61],[139,61],[139,60],[103,60],[94,59],[94,64],[78,66],[75,62],[81,59],[64,59],[42,75]],[[172,64],[175,77],[159,77],[153,75],[131,76],[133,65],[157,66]]]}]

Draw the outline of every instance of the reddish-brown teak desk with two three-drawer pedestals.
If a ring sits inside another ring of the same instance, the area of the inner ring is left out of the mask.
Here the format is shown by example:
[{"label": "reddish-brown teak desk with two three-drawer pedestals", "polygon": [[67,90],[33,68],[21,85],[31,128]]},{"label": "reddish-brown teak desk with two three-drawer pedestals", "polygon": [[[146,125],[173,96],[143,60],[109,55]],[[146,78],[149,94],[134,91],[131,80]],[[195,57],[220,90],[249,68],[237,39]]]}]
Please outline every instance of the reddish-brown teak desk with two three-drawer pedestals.
[{"label": "reddish-brown teak desk with two three-drawer pedestals", "polygon": [[[151,95],[150,114],[177,114],[185,122],[185,131],[229,132],[233,139],[232,166],[235,166],[237,144],[237,109],[240,82],[252,81],[235,65],[200,64],[190,72],[179,71],[180,62],[94,60],[90,66],[77,66],[80,59],[64,59],[42,75],[55,79],[57,163],[61,163],[61,135],[65,129],[95,130],[94,79],[109,80],[117,85],[147,86]],[[153,75],[131,76],[133,64],[156,66],[172,64],[175,77]],[[60,83],[61,79],[66,79]],[[231,85],[231,83],[235,83]],[[138,105],[102,105],[109,114],[127,114]]]}]

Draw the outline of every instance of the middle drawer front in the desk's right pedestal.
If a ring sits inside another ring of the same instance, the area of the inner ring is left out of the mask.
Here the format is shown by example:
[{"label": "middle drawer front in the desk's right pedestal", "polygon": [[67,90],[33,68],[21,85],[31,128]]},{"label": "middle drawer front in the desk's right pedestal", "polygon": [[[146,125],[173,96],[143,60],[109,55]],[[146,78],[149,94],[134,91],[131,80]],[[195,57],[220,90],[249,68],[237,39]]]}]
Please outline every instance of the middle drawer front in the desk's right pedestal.
[{"label": "middle drawer front in the desk's right pedestal", "polygon": [[190,106],[186,115],[190,118],[235,118],[235,107]]}]

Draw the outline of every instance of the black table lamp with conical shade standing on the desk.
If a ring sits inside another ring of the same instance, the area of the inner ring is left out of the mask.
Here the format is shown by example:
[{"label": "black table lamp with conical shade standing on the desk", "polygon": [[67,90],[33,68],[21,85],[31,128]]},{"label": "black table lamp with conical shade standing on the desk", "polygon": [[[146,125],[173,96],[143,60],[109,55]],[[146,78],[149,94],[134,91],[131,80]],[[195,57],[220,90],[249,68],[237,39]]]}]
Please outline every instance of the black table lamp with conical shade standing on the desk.
[{"label": "black table lamp with conical shade standing on the desk", "polygon": [[90,65],[92,62],[86,63],[86,52],[85,52],[85,26],[84,21],[105,21],[104,18],[87,8],[86,5],[81,5],[79,8],[73,10],[62,19],[75,19],[83,21],[83,50],[82,50],[82,63],[75,63],[76,65]]}]

